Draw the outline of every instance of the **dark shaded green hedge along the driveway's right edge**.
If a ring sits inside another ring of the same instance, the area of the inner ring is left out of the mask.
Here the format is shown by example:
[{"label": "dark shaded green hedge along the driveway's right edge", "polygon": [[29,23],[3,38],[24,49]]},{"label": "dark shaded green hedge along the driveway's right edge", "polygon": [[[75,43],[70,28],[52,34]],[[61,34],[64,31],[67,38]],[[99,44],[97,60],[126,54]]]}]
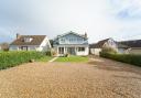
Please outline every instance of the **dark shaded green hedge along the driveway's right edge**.
[{"label": "dark shaded green hedge along the driveway's right edge", "polygon": [[113,54],[113,53],[100,53],[101,57],[115,59],[122,63],[128,63],[137,66],[141,66],[141,55],[133,54]]}]

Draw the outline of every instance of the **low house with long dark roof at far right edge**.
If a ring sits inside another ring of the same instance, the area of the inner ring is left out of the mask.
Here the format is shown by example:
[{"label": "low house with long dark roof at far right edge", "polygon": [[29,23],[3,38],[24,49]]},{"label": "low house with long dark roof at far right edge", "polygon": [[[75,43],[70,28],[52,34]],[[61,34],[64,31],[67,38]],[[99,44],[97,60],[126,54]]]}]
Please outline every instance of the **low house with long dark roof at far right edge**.
[{"label": "low house with long dark roof at far right edge", "polygon": [[129,46],[127,48],[129,54],[141,54],[141,40],[121,41],[118,43]]}]

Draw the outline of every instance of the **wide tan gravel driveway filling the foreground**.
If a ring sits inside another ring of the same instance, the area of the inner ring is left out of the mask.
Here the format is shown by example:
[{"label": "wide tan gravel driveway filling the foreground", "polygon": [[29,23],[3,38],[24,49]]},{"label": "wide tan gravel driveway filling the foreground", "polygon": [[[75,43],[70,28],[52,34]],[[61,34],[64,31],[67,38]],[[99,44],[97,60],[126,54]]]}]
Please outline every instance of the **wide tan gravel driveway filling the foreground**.
[{"label": "wide tan gravel driveway filling the foreground", "polygon": [[141,98],[141,68],[104,58],[0,70],[0,98]]}]

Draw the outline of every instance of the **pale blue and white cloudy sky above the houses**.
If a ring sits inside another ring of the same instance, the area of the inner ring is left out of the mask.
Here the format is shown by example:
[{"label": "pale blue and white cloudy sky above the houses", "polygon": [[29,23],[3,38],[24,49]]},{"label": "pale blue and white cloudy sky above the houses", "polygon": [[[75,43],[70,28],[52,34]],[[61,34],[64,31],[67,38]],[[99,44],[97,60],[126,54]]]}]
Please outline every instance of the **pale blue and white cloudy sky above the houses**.
[{"label": "pale blue and white cloudy sky above the houses", "polygon": [[87,32],[89,43],[141,40],[141,0],[0,0],[0,43],[15,34]]}]

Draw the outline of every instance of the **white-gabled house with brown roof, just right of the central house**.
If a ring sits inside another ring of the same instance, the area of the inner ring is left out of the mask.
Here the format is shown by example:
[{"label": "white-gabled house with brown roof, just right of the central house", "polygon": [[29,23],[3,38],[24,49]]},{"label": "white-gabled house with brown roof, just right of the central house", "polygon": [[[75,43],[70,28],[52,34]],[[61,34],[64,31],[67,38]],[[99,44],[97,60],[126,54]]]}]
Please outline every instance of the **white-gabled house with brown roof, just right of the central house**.
[{"label": "white-gabled house with brown roof, just right of the central house", "polygon": [[106,40],[99,41],[98,43],[89,45],[89,52],[90,52],[90,54],[99,55],[101,50],[105,47],[110,47],[110,48],[117,50],[117,47],[118,47],[117,42],[113,41],[112,39],[106,39]]}]

